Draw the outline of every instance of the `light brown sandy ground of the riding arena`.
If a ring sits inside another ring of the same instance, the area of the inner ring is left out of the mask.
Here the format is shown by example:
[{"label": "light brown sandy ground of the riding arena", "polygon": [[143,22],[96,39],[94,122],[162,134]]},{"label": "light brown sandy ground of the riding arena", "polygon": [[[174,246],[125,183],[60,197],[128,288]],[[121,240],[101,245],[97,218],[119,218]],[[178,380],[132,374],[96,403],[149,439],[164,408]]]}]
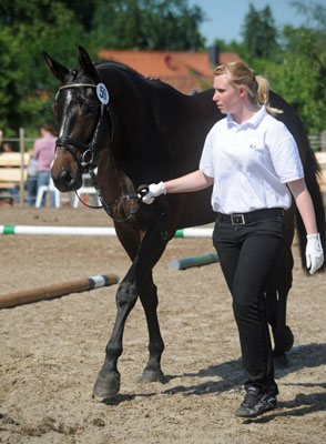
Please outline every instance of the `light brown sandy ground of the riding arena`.
[{"label": "light brown sandy ground of the riding arena", "polygon": [[[101,210],[0,206],[3,225],[112,225]],[[0,294],[95,274],[123,278],[116,238],[1,235]],[[115,319],[118,285],[0,310],[0,443],[322,444],[326,442],[325,275],[304,275],[294,246],[289,366],[277,370],[278,408],[233,414],[243,373],[231,297],[218,263],[184,271],[169,261],[213,252],[211,239],[174,239],[154,270],[165,383],[137,383],[147,360],[141,303],[119,361],[121,392],[93,400]]]}]

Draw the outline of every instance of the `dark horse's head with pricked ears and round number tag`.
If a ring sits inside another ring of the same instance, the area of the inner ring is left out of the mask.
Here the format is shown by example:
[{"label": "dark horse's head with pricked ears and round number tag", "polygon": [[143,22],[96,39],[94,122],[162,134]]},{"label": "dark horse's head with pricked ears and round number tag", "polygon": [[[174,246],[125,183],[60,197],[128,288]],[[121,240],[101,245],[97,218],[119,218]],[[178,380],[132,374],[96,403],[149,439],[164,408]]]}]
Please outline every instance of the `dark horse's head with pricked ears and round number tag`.
[{"label": "dark horse's head with pricked ears and round number tag", "polygon": [[77,69],[63,67],[45,52],[44,59],[62,83],[52,105],[59,138],[51,175],[60,191],[74,191],[82,184],[83,165],[90,164],[96,154],[109,94],[83,48],[79,48],[80,65]]}]

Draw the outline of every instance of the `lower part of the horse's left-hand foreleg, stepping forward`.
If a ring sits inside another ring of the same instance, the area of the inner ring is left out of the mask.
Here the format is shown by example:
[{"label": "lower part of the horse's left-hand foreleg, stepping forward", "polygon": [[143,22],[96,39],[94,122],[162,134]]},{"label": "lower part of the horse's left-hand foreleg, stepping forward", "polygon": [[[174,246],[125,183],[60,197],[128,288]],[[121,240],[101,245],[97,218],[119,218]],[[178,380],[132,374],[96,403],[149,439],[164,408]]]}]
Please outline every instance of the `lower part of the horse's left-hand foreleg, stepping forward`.
[{"label": "lower part of the horse's left-hand foreleg, stepping forward", "polygon": [[120,373],[118,359],[122,354],[122,337],[126,317],[137,299],[133,266],[120,283],[116,292],[116,319],[111,337],[105,349],[105,361],[98,375],[93,395],[108,397],[115,395],[120,390]]}]

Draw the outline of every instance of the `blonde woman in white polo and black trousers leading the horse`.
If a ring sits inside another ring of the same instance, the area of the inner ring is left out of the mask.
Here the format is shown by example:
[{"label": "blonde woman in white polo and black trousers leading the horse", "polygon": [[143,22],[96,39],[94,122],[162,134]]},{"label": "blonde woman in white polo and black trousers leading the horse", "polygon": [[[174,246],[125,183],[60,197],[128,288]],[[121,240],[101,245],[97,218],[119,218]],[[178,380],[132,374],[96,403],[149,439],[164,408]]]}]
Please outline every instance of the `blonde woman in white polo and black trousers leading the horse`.
[{"label": "blonde woman in white polo and black trousers leading the horse", "polygon": [[324,252],[297,145],[273,117],[282,111],[268,107],[266,79],[233,62],[215,69],[214,90],[226,117],[208,132],[198,170],[151,184],[143,202],[213,185],[213,243],[232,293],[245,371],[246,394],[235,415],[255,417],[277,404],[264,293],[284,250],[292,195],[307,232],[310,273],[322,266]]}]

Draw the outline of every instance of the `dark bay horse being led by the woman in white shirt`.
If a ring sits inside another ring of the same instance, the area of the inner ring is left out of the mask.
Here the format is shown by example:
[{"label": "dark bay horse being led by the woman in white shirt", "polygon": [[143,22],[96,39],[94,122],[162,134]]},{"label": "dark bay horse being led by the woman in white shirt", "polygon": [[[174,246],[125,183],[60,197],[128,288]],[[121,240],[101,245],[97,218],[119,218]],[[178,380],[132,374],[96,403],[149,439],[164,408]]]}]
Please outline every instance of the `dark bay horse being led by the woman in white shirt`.
[{"label": "dark bay horse being led by the woman in white shirt", "polygon": [[[106,397],[120,390],[118,359],[122,354],[124,324],[137,296],[146,316],[150,354],[141,381],[164,381],[161,370],[164,343],[152,269],[175,230],[215,220],[211,189],[160,196],[152,205],[142,203],[136,190],[143,183],[166,181],[196,170],[205,135],[223,115],[213,103],[213,90],[187,97],[123,64],[113,61],[93,64],[82,48],[75,69],[61,65],[47,53],[44,58],[61,81],[53,104],[60,129],[51,172],[54,184],[62,192],[78,190],[83,170],[92,171],[96,164],[100,198],[132,261],[116,292],[115,324],[93,389],[95,395]],[[325,245],[325,213],[316,179],[318,165],[307,135],[299,118],[281,97],[271,93],[271,104],[284,110],[279,119],[298,144]],[[292,286],[295,213],[295,208],[287,211],[286,251],[266,294],[274,352],[283,356],[293,344],[286,326],[286,299]],[[304,258],[306,239],[299,218],[296,225]]]}]

